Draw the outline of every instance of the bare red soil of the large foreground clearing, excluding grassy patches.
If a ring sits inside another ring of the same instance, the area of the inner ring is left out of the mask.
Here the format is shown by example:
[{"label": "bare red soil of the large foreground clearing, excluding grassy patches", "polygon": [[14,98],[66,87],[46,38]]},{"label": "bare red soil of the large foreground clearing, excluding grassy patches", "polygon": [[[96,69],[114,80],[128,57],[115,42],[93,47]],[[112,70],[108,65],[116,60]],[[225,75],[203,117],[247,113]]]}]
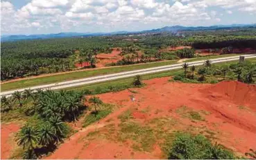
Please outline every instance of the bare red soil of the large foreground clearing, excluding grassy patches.
[{"label": "bare red soil of the large foreground clearing, excluding grassy patches", "polygon": [[[214,141],[244,154],[256,144],[256,87],[237,81],[223,81],[218,84],[171,83],[169,78],[144,81],[144,88],[100,94],[105,103],[120,106],[98,123],[80,130],[69,141],[62,144],[49,159],[160,159],[162,150],[156,143],[152,152],[139,152],[131,149],[133,141],[119,142],[110,139],[88,139],[87,133],[114,124],[119,130],[120,119],[117,117],[126,110],[133,110],[135,120],[142,123],[154,118],[172,117],[178,120],[174,130],[187,130],[200,127],[215,132]],[[131,101],[130,96],[135,97]],[[185,105],[196,111],[210,112],[205,114],[205,121],[196,123],[182,117],[176,109]],[[239,108],[243,105],[245,109]],[[111,121],[110,121],[111,119]],[[105,131],[104,131],[105,129]],[[83,141],[81,141],[83,139]],[[76,148],[76,150],[74,150]],[[72,152],[69,152],[72,150]]]}]

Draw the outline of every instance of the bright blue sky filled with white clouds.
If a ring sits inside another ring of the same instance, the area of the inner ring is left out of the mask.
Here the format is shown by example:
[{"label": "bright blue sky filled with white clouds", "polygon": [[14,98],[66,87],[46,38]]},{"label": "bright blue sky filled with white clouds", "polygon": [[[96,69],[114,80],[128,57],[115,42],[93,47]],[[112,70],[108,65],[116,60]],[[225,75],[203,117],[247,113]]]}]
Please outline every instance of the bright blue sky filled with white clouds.
[{"label": "bright blue sky filled with white clouds", "polygon": [[1,0],[1,35],[256,23],[256,0]]}]

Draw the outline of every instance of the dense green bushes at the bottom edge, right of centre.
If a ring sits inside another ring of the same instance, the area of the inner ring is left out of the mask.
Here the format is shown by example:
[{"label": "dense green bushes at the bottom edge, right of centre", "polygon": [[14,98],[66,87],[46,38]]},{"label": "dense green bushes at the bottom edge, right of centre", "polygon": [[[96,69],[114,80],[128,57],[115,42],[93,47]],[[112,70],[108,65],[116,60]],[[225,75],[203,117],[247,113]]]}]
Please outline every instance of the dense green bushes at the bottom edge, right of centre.
[{"label": "dense green bushes at the bottom edge, right of centre", "polygon": [[169,159],[235,159],[234,154],[219,144],[198,134],[176,134],[169,151]]}]

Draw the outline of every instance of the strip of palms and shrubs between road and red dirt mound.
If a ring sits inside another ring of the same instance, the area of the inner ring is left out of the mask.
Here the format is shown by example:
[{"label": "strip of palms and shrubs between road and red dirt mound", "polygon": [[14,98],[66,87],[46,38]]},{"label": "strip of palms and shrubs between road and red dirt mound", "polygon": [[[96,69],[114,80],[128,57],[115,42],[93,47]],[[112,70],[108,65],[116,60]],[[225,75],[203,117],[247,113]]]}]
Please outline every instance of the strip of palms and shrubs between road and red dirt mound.
[{"label": "strip of palms and shrubs between road and red dirt mound", "polygon": [[[185,68],[186,67],[186,68]],[[226,65],[212,65],[211,61],[205,61],[205,65],[196,70],[195,66],[191,66],[189,74],[187,74],[187,63],[183,64],[184,74],[178,74],[173,77],[175,81],[186,83],[217,83],[225,79],[237,79],[244,83],[255,83],[256,65],[245,61],[243,63],[227,63]]]}]

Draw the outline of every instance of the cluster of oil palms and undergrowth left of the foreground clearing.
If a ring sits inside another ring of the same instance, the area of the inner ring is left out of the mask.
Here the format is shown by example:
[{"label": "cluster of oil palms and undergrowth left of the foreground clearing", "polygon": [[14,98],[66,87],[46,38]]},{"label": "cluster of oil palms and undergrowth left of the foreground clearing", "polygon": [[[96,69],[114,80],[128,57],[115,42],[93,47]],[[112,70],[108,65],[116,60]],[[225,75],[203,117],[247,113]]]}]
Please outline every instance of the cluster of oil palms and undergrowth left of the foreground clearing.
[{"label": "cluster of oil palms and undergrowth left of the foreground clearing", "polygon": [[[22,150],[16,158],[40,158],[56,149],[59,142],[73,132],[66,121],[76,121],[86,106],[84,92],[52,90],[25,90],[15,92],[12,97],[2,97],[1,122],[26,121],[15,135]],[[6,106],[12,106],[8,108]],[[4,108],[4,110],[3,110]]]}]

